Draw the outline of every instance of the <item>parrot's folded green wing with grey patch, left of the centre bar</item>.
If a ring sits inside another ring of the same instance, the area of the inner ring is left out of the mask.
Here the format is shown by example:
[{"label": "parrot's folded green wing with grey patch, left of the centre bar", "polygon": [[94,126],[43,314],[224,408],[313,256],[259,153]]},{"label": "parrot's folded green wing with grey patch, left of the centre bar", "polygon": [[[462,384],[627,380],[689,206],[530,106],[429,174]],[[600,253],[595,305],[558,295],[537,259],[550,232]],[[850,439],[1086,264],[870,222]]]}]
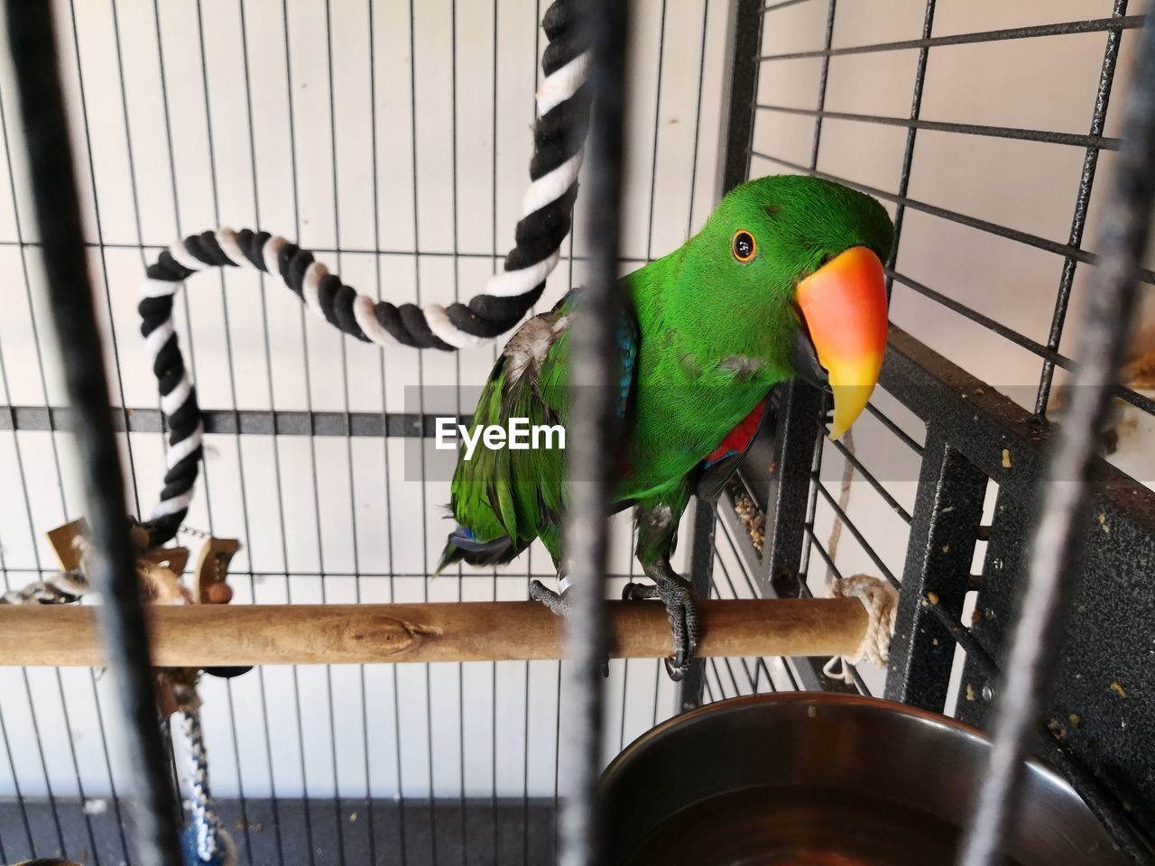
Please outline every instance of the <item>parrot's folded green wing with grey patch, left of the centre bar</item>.
[{"label": "parrot's folded green wing with grey patch, left of the centre bar", "polygon": [[[574,294],[549,313],[527,321],[506,344],[477,402],[470,436],[478,427],[509,430],[511,419],[526,419],[529,447],[486,448],[478,441],[471,460],[464,451],[450,486],[457,522],[440,568],[464,560],[475,565],[505,562],[535,538],[554,560],[560,557],[560,523],[565,510],[566,458],[561,443],[569,415],[567,368],[569,320]],[[638,328],[632,319],[619,331],[621,381],[619,413],[625,415],[634,374]],[[552,428],[542,432],[542,428]],[[546,440],[550,435],[550,440]]]}]

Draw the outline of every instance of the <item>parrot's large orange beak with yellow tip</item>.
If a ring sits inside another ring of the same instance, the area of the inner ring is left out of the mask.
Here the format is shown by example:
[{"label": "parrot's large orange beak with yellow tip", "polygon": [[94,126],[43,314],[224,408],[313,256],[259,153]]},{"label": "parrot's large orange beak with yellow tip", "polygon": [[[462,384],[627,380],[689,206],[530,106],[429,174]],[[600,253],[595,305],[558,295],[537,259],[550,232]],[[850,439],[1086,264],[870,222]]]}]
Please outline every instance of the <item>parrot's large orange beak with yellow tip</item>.
[{"label": "parrot's large orange beak with yellow tip", "polygon": [[837,439],[866,408],[882,368],[882,262],[866,247],[851,247],[798,283],[796,300],[834,391],[830,438]]}]

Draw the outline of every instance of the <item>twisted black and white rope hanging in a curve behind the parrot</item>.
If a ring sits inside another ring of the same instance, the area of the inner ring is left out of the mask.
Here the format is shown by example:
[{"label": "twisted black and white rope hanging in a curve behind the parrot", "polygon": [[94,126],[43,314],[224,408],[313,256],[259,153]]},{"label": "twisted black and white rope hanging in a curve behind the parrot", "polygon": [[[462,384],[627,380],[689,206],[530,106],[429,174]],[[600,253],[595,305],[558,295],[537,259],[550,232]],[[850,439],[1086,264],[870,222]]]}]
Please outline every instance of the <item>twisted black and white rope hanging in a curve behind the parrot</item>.
[{"label": "twisted black and white rope hanging in a curve behind the parrot", "polygon": [[170,428],[164,490],[146,524],[151,544],[164,544],[177,533],[202,456],[204,426],[196,389],[172,321],[177,289],[196,271],[233,267],[277,275],[310,309],[357,339],[442,351],[469,349],[505,334],[541,298],[569,233],[589,122],[589,45],[580,32],[576,6],[575,0],[556,0],[542,21],[549,39],[542,57],[545,77],[537,92],[530,185],[522,197],[516,246],[506,255],[505,269],[469,304],[418,307],[375,301],[342,283],[307,249],[249,229],[192,234],[149,266],[141,289],[141,334]]}]

